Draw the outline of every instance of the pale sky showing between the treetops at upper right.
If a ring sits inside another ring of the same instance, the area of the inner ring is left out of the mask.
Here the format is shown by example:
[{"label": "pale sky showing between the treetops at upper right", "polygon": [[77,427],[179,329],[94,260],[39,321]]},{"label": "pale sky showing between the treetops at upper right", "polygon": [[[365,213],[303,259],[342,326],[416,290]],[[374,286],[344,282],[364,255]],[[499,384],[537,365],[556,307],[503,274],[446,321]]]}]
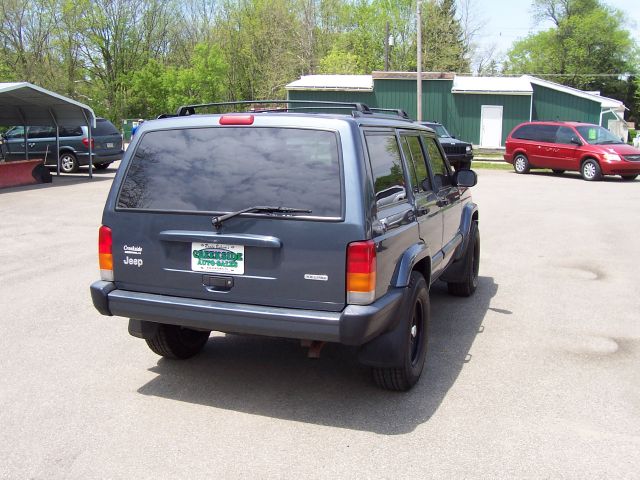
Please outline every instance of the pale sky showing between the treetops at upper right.
[{"label": "pale sky showing between the treetops at upper right", "polygon": [[[472,13],[485,25],[478,36],[478,43],[484,48],[495,46],[506,52],[515,40],[551,26],[550,23],[535,25],[530,0],[472,0],[471,3]],[[603,3],[625,13],[625,26],[640,44],[640,1],[603,0]]]}]

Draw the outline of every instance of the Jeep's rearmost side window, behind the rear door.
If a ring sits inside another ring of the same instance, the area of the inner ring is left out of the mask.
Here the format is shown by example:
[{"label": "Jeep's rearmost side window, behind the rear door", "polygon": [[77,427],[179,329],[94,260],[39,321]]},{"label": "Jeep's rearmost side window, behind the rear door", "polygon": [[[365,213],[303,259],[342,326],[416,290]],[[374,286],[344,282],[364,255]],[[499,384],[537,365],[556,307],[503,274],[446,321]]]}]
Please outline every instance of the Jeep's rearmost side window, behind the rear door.
[{"label": "Jeep's rearmost side window, behind the rear door", "polygon": [[384,207],[406,200],[400,149],[394,134],[365,134],[373,172],[376,205]]}]

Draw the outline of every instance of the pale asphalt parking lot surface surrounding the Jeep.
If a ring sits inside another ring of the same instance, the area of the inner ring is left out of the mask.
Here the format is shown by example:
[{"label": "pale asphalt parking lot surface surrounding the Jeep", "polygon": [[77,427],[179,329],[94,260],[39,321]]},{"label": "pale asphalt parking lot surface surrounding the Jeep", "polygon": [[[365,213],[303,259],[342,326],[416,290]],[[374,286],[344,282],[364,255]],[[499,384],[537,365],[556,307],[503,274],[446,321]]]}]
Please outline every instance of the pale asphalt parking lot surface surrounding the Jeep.
[{"label": "pale asphalt parking lot surface surrounding the Jeep", "polygon": [[100,316],[113,171],[0,191],[0,478],[638,478],[640,180],[480,170],[480,285],[432,289],[427,367],[213,335],[159,359]]}]

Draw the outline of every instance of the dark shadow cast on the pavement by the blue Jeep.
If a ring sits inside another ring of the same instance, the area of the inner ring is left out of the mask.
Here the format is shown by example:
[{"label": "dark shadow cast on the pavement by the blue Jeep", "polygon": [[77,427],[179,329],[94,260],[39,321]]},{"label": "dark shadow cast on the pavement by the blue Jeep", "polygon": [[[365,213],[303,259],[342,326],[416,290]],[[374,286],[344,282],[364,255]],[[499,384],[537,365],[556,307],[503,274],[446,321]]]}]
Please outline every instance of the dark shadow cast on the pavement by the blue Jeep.
[{"label": "dark shadow cast on the pavement by the blue Jeep", "polygon": [[356,350],[327,345],[319,360],[298,342],[264,337],[212,337],[187,361],[161,359],[158,376],[138,392],[225,410],[384,435],[413,431],[438,410],[455,383],[498,285],[480,277],[471,298],[431,291],[427,363],[407,393],[378,389]]}]

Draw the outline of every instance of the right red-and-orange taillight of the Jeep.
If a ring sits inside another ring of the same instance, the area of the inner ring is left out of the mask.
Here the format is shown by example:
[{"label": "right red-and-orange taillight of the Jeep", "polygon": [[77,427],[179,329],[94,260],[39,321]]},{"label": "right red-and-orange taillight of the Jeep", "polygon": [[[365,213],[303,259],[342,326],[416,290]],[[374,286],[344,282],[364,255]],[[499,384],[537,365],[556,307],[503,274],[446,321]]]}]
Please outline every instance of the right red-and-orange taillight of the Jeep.
[{"label": "right red-and-orange taillight of the Jeep", "polygon": [[376,296],[376,245],[373,240],[347,247],[347,303],[368,305]]}]

